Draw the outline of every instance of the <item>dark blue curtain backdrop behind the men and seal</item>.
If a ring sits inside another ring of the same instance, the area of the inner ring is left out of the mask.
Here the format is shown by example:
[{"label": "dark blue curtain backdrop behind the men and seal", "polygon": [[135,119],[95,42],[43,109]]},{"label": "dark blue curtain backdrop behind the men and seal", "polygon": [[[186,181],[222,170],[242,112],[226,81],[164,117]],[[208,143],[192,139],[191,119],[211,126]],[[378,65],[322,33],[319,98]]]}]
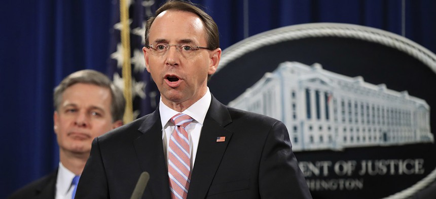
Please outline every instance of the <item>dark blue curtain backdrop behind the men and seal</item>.
[{"label": "dark blue curtain backdrop behind the men and seal", "polygon": [[[134,1],[142,0],[132,0],[132,4],[144,13],[160,4]],[[335,22],[383,29],[436,52],[433,0],[192,2],[203,5],[215,19],[222,49],[283,26]],[[77,70],[111,73],[118,4],[107,0],[16,0],[0,6],[0,198],[57,167],[53,88]]]}]

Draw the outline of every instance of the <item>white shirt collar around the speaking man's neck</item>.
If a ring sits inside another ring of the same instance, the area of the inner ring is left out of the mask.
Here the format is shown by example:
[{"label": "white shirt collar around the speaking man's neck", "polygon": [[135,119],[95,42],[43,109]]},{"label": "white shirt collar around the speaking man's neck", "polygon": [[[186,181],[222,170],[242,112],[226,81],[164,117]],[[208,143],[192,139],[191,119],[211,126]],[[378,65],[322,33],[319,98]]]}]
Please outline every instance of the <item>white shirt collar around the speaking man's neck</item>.
[{"label": "white shirt collar around the speaking man's neck", "polygon": [[[212,100],[212,96],[209,91],[209,87],[207,87],[206,93],[195,102],[193,105],[188,107],[184,112],[184,114],[191,116],[196,122],[203,125],[204,118],[206,117],[207,110],[209,110],[210,101]],[[159,113],[161,116],[162,128],[168,123],[168,121],[179,112],[172,110],[168,106],[166,106],[162,102],[162,96],[159,102]]]}]

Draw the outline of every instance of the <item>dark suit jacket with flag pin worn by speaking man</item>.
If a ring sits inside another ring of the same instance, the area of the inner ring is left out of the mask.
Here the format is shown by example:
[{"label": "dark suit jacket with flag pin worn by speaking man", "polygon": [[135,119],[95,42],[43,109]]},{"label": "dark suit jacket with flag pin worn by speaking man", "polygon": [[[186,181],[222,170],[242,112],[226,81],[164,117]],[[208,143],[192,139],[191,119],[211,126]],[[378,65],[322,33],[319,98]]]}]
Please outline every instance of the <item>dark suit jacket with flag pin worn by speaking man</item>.
[{"label": "dark suit jacket with flag pin worn by speaking man", "polygon": [[[76,198],[129,198],[142,171],[150,173],[142,198],[170,198],[159,109],[94,139]],[[188,198],[311,196],[284,124],[212,96]]]}]

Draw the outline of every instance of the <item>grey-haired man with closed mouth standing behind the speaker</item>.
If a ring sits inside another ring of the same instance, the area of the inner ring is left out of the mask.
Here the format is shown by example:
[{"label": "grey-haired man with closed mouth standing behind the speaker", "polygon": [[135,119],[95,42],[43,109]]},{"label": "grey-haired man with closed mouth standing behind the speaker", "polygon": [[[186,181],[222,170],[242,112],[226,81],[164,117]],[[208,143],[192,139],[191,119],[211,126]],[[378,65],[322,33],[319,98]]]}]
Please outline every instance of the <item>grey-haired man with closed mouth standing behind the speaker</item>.
[{"label": "grey-haired man with closed mouth standing behind the speaker", "polygon": [[10,198],[71,198],[91,151],[92,140],[122,125],[123,92],[104,74],[82,70],[64,78],[53,94],[59,167]]}]

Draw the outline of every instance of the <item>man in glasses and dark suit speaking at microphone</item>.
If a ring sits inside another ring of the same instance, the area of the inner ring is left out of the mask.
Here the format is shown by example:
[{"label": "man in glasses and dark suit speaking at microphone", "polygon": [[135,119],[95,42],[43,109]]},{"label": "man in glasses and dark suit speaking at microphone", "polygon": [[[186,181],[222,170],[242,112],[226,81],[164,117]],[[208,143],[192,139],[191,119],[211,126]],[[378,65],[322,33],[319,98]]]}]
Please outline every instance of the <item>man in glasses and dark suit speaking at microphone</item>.
[{"label": "man in glasses and dark suit speaking at microphone", "polygon": [[[150,181],[142,198],[311,198],[284,124],[226,107],[210,94],[208,76],[221,58],[212,18],[179,1],[155,16],[147,22],[143,53],[159,107],[94,139],[76,198],[129,198],[143,171]],[[169,120],[178,113],[193,118],[185,128],[191,173],[173,184],[171,176],[180,173],[169,169],[177,170],[169,161],[171,132],[179,127]]]}]

